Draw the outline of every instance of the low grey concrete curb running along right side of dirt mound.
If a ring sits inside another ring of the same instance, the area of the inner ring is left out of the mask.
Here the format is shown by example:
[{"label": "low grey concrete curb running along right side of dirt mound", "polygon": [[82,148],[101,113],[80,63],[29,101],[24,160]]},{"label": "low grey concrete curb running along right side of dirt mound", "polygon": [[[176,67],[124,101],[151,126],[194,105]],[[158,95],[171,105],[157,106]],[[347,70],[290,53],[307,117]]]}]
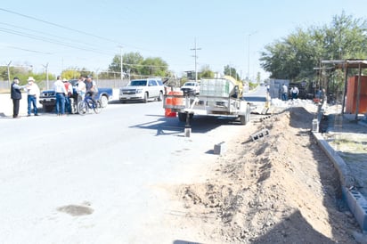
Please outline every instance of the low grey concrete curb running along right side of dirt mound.
[{"label": "low grey concrete curb running along right side of dirt mound", "polygon": [[320,133],[313,132],[313,134],[322,150],[328,155],[334,167],[338,170],[343,199],[346,200],[347,206],[355,216],[362,231],[367,232],[367,200],[363,198],[363,195],[359,191],[353,189],[355,179],[350,174],[346,162],[330,147],[329,143],[324,140]]}]

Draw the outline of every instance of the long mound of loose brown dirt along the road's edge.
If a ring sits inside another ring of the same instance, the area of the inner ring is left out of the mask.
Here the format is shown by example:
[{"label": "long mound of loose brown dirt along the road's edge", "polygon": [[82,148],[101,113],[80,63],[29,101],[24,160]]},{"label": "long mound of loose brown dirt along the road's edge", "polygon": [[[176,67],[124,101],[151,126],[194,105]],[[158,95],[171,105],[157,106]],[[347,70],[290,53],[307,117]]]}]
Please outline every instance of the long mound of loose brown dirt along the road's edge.
[{"label": "long mound of loose brown dirt along the road's edge", "polygon": [[[291,108],[246,126],[205,183],[177,187],[186,213],[179,224],[209,243],[357,243],[338,173],[310,132],[313,118]],[[251,140],[264,129],[269,135]]]}]

